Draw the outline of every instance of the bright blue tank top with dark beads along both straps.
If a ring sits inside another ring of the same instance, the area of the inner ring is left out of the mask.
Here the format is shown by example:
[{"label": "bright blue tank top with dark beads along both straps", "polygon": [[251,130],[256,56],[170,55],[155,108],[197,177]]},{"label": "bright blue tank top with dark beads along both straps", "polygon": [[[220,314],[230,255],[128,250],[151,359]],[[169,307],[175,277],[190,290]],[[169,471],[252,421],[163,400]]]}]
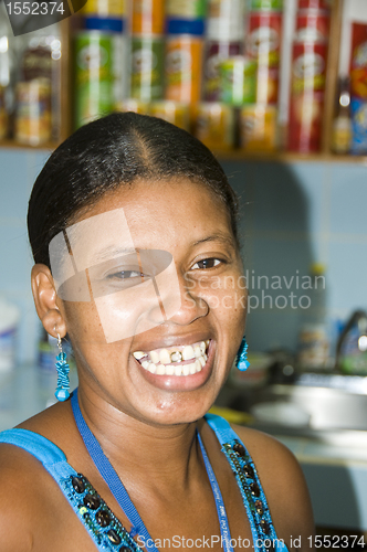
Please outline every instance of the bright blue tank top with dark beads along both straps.
[{"label": "bright blue tank top with dark beads along both straps", "polygon": [[[253,544],[255,552],[287,552],[284,542],[276,537],[256,468],[243,443],[222,417],[213,414],[205,417],[232,468],[250,521],[253,543],[244,539],[241,548],[250,549]],[[0,443],[17,445],[42,463],[98,551],[141,552],[144,542],[119,522],[86,477],[67,464],[64,453],[51,440],[28,429],[8,429],[0,433]]]}]

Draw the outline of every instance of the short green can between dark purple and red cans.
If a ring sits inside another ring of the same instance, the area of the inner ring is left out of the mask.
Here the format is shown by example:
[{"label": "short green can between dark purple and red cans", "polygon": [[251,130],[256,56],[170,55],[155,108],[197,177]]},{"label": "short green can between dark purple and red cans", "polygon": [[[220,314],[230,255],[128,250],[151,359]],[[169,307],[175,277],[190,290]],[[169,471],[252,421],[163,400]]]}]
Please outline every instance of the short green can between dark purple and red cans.
[{"label": "short green can between dark purple and red cans", "polygon": [[241,106],[256,102],[258,63],[243,55],[224,60],[219,66],[221,100]]}]

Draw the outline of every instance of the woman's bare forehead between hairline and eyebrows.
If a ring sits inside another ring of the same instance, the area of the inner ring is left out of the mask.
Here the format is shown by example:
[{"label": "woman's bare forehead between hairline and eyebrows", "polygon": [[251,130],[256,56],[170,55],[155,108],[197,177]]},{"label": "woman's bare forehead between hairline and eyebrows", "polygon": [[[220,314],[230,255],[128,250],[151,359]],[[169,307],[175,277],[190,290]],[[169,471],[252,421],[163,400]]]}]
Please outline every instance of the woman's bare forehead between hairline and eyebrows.
[{"label": "woman's bare forehead between hairline and eyebrows", "polygon": [[[114,223],[112,213],[97,216],[119,209],[128,232],[120,222]],[[101,241],[98,236],[104,235],[106,242],[118,240],[126,242],[127,247],[132,245],[130,240],[134,247],[170,250],[169,245],[199,241],[206,234],[232,236],[230,215],[222,200],[205,184],[188,179],[122,185],[103,195],[75,222],[86,220],[88,237],[96,232],[94,241]],[[102,220],[106,221],[106,227],[101,227]]]}]

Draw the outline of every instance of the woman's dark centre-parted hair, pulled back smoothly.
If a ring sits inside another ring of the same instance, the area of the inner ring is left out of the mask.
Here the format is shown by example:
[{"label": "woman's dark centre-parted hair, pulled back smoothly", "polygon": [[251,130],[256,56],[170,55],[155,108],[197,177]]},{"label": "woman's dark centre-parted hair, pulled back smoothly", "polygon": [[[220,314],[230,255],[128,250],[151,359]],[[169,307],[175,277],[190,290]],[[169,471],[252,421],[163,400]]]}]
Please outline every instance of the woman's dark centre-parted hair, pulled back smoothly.
[{"label": "woman's dark centre-parted hair, pulled back smoothly", "polygon": [[209,188],[226,205],[237,238],[237,197],[217,159],[189,132],[135,113],[114,113],[80,128],[34,183],[28,210],[34,262],[50,267],[50,241],[106,192],[136,179],[175,177]]}]

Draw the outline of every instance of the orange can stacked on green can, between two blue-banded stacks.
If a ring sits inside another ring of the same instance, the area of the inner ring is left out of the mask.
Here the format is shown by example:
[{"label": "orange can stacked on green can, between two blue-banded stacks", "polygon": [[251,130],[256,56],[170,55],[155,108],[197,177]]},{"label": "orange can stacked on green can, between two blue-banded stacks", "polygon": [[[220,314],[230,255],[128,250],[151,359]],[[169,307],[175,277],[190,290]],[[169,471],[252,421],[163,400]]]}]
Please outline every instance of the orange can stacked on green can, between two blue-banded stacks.
[{"label": "orange can stacked on green can, between two blue-banded stacks", "polygon": [[129,96],[143,104],[164,95],[164,0],[133,0]]}]

